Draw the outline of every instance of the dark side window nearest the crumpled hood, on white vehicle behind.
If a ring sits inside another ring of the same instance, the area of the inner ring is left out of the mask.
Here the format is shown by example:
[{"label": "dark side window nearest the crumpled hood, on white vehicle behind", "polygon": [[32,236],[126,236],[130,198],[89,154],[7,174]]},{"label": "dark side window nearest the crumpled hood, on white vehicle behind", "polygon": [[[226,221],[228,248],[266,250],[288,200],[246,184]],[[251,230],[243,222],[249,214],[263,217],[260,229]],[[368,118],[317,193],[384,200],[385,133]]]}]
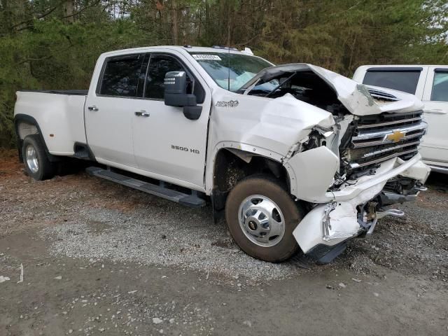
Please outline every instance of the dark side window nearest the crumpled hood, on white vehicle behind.
[{"label": "dark side window nearest the crumpled hood, on white vehicle behind", "polygon": [[367,69],[363,84],[416,94],[421,67],[374,67]]}]

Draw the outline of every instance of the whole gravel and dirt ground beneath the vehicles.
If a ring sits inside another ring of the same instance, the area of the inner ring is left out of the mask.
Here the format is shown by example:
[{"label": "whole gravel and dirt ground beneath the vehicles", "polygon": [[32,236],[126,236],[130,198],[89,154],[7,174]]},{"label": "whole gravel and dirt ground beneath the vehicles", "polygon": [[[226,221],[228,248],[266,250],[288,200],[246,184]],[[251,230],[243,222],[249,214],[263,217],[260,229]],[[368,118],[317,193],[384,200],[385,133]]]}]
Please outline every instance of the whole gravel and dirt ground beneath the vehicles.
[{"label": "whole gravel and dirt ground beneath the vehicles", "polygon": [[[344,296],[352,333],[448,334],[448,176],[431,176],[419,200],[398,207],[405,218],[383,218],[370,239],[354,239],[319,267],[300,255],[281,264],[248,257],[209,207],[182,207],[82,172],[36,182],[15,152],[0,158],[0,276],[10,278],[0,282],[0,335],[3,325],[4,335],[291,335],[292,321],[307,324],[316,307],[342,332],[328,309],[342,309]],[[15,284],[20,264],[24,284],[38,289]],[[263,300],[276,310],[257,323]],[[256,311],[241,320],[242,307]],[[36,332],[27,332],[31,325]],[[302,333],[333,330],[319,328]]]}]

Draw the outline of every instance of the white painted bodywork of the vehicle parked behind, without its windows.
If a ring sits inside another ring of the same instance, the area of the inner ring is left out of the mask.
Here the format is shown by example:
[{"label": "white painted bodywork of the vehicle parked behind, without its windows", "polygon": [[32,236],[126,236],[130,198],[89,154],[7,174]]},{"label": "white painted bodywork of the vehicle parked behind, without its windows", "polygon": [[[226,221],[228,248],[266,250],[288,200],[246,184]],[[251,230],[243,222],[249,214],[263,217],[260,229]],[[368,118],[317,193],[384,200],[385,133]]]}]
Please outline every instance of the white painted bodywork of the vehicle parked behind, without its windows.
[{"label": "white painted bodywork of the vehicle parked behind, without its windows", "polygon": [[[415,96],[424,104],[424,116],[428,123],[428,131],[423,138],[420,153],[423,162],[433,167],[436,172],[448,173],[448,88],[446,99],[437,101],[431,98],[436,69],[445,69],[447,65],[363,65],[356,69],[353,80],[363,83],[369,69],[384,68],[391,71],[396,69],[419,68],[420,76],[416,83]],[[447,75],[448,76],[448,75]],[[393,75],[391,75],[393,78]],[[390,89],[388,89],[390,90]],[[395,91],[396,92],[396,91]]]}]

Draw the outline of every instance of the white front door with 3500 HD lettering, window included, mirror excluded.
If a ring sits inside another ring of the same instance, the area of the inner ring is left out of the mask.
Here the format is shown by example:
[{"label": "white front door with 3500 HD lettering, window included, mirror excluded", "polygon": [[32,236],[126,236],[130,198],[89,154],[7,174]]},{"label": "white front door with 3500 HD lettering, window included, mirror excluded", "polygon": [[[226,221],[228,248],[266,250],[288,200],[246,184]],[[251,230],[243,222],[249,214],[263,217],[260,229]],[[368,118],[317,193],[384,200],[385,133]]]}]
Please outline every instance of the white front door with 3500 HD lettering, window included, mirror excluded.
[{"label": "white front door with 3500 HD lettering, window included, mirror excluded", "polygon": [[[166,106],[164,79],[168,71],[186,71],[190,93],[202,106],[198,120],[183,116],[183,108]],[[174,55],[152,53],[146,72],[144,99],[132,118],[134,155],[139,169],[156,179],[198,190],[204,188],[207,127],[211,94],[204,81]],[[183,183],[184,182],[184,183]],[[190,183],[193,185],[190,185]]]}]

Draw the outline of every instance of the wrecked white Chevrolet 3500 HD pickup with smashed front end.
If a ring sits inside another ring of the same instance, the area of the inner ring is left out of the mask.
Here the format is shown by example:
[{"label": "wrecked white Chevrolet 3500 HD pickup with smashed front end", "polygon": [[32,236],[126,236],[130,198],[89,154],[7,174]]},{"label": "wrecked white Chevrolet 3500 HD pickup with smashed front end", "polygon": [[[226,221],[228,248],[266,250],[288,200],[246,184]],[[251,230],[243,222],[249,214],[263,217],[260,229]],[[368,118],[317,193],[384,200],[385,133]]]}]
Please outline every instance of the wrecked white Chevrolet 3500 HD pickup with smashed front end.
[{"label": "wrecked white Chevrolet 3500 HD pickup with smashed front end", "polygon": [[249,255],[299,248],[330,262],[386,204],[424,190],[426,132],[412,94],[311,64],[273,66],[250,50],[106,52],[88,92],[19,91],[15,129],[34,179],[67,158],[94,176],[192,207],[210,200]]}]

